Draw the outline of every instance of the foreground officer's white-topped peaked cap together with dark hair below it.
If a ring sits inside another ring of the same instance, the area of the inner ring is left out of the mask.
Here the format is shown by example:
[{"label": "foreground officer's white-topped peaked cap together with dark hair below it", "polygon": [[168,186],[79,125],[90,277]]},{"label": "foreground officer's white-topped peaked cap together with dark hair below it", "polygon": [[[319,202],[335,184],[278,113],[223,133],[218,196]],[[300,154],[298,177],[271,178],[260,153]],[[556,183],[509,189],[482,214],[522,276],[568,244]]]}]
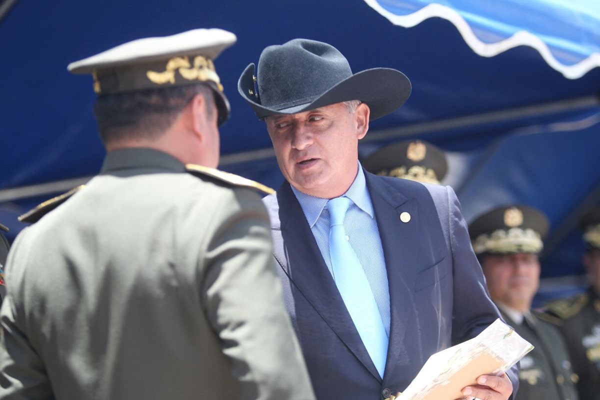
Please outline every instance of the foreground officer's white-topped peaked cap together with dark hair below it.
[{"label": "foreground officer's white-topped peaked cap together with dark hair below it", "polygon": [[[169,131],[190,104],[217,124],[229,116],[229,102],[214,59],[235,43],[222,29],[194,29],[167,37],[130,41],[68,66],[90,73],[98,95],[95,115],[104,145],[151,142]],[[194,98],[202,97],[201,102]]]}]

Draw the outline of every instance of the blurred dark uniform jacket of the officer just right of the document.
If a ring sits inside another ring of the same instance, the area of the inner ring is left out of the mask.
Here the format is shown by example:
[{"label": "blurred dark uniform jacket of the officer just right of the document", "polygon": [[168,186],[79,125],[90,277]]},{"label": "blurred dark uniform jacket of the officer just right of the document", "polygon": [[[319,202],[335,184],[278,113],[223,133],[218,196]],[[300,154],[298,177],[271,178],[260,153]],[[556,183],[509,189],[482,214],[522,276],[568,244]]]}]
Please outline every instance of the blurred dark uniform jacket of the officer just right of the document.
[{"label": "blurred dark uniform jacket of the officer just right of the document", "polygon": [[519,391],[515,400],[577,399],[577,375],[556,327],[541,320],[535,313],[525,317],[521,324],[515,323],[503,312],[502,317],[535,347],[521,359]]}]

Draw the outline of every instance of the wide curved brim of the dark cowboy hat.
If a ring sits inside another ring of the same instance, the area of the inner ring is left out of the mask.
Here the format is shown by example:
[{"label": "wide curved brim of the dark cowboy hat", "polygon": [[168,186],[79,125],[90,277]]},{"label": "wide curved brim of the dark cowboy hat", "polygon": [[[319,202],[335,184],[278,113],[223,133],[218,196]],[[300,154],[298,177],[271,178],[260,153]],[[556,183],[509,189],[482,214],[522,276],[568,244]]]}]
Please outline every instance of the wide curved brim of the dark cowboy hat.
[{"label": "wide curved brim of the dark cowboy hat", "polygon": [[254,64],[248,65],[238,80],[239,94],[250,104],[259,119],[277,114],[295,114],[344,101],[360,100],[371,110],[371,121],[394,112],[409,98],[410,80],[392,68],[373,68],[347,77],[308,103],[284,109],[260,104],[254,86]]}]

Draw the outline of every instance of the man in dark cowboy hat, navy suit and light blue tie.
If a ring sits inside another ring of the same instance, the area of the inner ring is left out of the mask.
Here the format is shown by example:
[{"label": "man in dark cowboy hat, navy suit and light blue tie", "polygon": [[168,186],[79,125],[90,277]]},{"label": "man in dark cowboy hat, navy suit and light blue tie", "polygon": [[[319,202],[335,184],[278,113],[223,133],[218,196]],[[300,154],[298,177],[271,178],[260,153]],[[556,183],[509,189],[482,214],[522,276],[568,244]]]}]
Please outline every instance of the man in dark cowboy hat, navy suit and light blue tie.
[{"label": "man in dark cowboy hat, navy suit and light blue tie", "polygon": [[[352,74],[337,49],[304,39],[267,47],[257,76],[251,64],[239,79],[286,178],[264,201],[320,399],[391,398],[431,354],[499,317],[451,188],[371,175],[358,162],[369,121],[410,90],[400,71]],[[463,393],[506,399],[517,386],[509,374]]]}]

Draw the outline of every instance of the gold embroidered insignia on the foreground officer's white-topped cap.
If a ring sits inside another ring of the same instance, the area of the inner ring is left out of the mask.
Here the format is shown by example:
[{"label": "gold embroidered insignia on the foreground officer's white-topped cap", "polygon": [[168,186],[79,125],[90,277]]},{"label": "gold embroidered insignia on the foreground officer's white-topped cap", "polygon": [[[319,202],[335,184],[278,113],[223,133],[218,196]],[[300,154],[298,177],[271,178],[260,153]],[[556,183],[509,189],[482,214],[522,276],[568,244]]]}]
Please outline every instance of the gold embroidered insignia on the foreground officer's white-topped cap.
[{"label": "gold embroidered insignia on the foreground officer's white-topped cap", "polygon": [[210,80],[217,84],[218,89],[222,92],[223,86],[221,80],[215,71],[215,65],[211,59],[205,56],[194,57],[194,65],[192,67],[188,56],[173,57],[167,61],[167,65],[163,72],[146,71],[146,77],[157,85],[166,83],[175,84],[175,73],[179,72],[182,78],[186,80],[199,80],[206,82]]}]

